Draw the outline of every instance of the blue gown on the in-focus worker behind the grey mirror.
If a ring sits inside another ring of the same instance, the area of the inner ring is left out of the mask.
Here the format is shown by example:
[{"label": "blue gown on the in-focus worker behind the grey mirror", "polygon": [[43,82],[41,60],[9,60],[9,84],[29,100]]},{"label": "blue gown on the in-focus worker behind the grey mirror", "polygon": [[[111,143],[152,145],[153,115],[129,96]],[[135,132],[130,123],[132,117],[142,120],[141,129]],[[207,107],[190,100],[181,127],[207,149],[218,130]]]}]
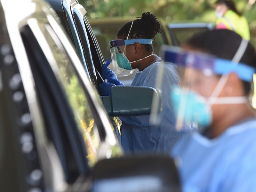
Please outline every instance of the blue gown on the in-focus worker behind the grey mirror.
[{"label": "blue gown on the in-focus worker behind the grey mirror", "polygon": [[[160,63],[155,62],[143,71],[137,71],[131,85],[155,87],[156,73]],[[120,117],[122,120],[121,143],[126,154],[137,152],[170,154],[174,144],[183,137],[184,132],[175,130],[176,120],[170,102],[170,91],[173,85],[179,84],[179,76],[171,63],[165,63],[164,72],[161,90],[163,110],[158,116],[161,123],[150,124],[149,115]],[[190,132],[190,130],[186,131]]]}]

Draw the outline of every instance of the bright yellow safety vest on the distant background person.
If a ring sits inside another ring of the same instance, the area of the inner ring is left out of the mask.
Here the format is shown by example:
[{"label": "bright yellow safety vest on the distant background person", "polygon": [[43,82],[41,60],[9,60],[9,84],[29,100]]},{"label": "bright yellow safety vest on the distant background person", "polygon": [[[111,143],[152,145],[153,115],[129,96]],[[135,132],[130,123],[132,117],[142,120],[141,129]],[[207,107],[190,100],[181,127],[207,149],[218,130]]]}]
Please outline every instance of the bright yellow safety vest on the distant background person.
[{"label": "bright yellow safety vest on the distant background person", "polygon": [[250,29],[244,16],[239,16],[232,10],[228,10],[225,15],[217,20],[217,26],[223,23],[229,30],[235,31],[246,40],[250,40]]}]

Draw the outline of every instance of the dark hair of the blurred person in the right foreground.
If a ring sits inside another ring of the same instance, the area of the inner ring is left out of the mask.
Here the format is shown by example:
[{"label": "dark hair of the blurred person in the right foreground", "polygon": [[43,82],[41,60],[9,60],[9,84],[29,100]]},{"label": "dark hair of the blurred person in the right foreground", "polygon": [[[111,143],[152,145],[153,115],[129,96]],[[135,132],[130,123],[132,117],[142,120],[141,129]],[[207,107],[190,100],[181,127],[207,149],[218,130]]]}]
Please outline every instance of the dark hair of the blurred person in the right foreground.
[{"label": "dark hair of the blurred person in the right foreground", "polygon": [[[189,38],[185,44],[219,58],[232,60],[241,41],[242,37],[235,32],[227,29],[218,29],[198,33]],[[256,52],[252,44],[248,43],[240,62],[256,68]],[[252,91],[252,83],[242,82],[244,93],[248,95]]]}]

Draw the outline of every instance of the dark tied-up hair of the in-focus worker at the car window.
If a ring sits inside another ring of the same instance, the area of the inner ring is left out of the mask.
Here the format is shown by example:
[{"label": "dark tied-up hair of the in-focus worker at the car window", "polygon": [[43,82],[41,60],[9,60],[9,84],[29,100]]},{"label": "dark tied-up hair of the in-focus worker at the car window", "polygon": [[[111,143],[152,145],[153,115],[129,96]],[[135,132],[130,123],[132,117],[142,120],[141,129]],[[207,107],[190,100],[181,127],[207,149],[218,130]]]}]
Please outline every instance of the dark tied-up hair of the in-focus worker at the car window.
[{"label": "dark tied-up hair of the in-focus worker at the car window", "polygon": [[[136,19],[124,24],[122,28],[117,32],[117,36],[124,36],[127,38],[129,30],[132,25],[131,32],[129,34],[129,39],[154,39],[157,33],[162,33],[161,24],[156,18],[156,15],[151,14],[150,12],[142,13],[141,17],[136,17],[140,19]],[[146,48],[147,52],[153,52],[152,45],[143,44]]]}]

